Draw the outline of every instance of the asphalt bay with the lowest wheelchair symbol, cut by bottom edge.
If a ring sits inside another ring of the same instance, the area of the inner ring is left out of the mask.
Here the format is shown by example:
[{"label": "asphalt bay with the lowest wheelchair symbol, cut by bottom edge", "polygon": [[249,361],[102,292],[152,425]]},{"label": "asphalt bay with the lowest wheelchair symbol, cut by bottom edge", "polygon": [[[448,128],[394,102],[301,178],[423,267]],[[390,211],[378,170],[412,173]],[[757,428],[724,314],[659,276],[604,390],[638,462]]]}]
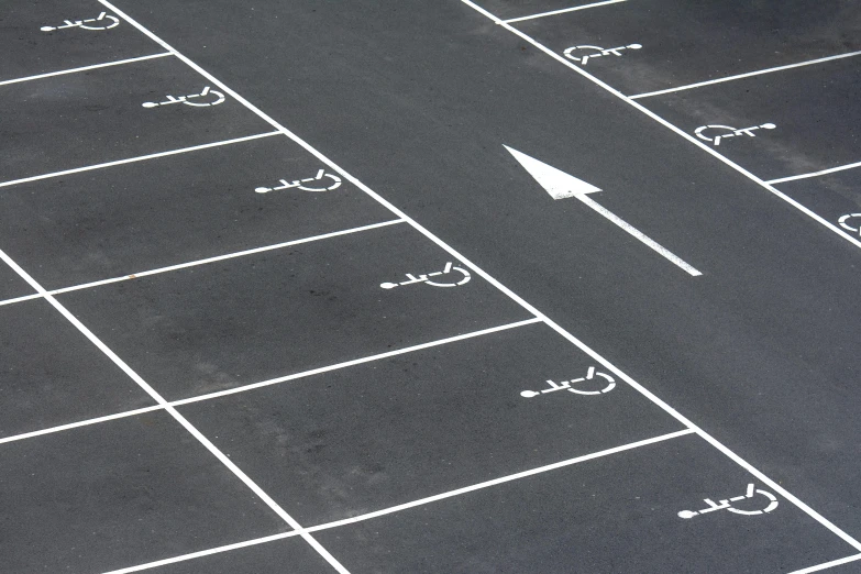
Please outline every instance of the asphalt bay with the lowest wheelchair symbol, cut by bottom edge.
[{"label": "asphalt bay with the lowest wheelchair symbol, cut by bottom edge", "polygon": [[[722,508],[702,512],[711,508],[704,499]],[[685,510],[702,514],[683,518]],[[848,554],[693,435],[314,536],[353,572],[515,573],[541,564],[562,573],[576,564],[582,572],[737,574],[791,572]]]}]

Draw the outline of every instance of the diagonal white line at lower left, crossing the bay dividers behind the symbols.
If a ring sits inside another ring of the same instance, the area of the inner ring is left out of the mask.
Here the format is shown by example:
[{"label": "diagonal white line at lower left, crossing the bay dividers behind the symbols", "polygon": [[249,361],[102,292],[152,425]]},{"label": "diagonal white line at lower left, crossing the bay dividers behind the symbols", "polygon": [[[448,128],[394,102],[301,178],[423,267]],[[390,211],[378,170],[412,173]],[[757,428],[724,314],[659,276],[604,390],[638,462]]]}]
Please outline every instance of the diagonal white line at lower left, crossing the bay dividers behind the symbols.
[{"label": "diagonal white line at lower left, crossing the bay dividers behind the symbols", "polygon": [[[214,444],[212,444],[209,439],[203,437],[203,434],[195,428],[194,424],[191,424],[185,417],[183,417],[174,407],[172,407],[167,400],[164,399],[153,387],[150,386],[148,383],[146,383],[132,367],[130,367],[125,361],[120,358],[108,345],[106,345],[96,334],[90,331],[84,323],[81,323],[77,317],[75,317],[71,311],[66,309],[63,303],[57,301],[57,299],[54,298],[54,296],[49,295],[44,287],[42,287],[33,277],[30,276],[23,268],[21,268],[14,261],[12,261],[9,255],[7,255],[4,252],[0,251],[0,258],[7,263],[10,267],[12,267],[15,273],[18,273],[21,278],[23,278],[25,282],[27,282],[31,287],[33,287],[36,291],[41,292],[45,300],[47,300],[54,308],[60,312],[71,324],[74,324],[78,331],[80,331],[84,336],[89,339],[89,341],[96,345],[97,349],[99,349],[102,353],[104,353],[114,365],[120,367],[129,377],[137,383],[137,385],[146,391],[158,405],[165,408],[167,412],[170,413],[170,416],[174,417],[174,419],[179,422],[185,429],[191,433],[207,450],[209,450],[224,466],[230,470],[236,478],[242,481],[245,486],[247,486],[257,497],[263,500],[266,506],[269,507],[272,511],[274,511],[276,515],[278,515],[285,522],[287,522],[291,528],[295,530],[298,530],[301,528],[301,525],[297,522],[290,515],[288,515],[275,500],[273,500],[263,489],[257,486],[257,484],[251,479],[242,470],[240,470],[235,464],[233,464],[230,459],[228,459],[224,453],[222,453]],[[314,549],[318,550],[318,552],[321,553],[321,555],[330,560],[331,565],[340,573],[340,574],[350,574],[343,566],[341,566],[338,561],[335,561],[331,554],[325,552],[324,549],[320,548],[313,538],[308,533],[300,533],[306,541],[314,547]]]}]

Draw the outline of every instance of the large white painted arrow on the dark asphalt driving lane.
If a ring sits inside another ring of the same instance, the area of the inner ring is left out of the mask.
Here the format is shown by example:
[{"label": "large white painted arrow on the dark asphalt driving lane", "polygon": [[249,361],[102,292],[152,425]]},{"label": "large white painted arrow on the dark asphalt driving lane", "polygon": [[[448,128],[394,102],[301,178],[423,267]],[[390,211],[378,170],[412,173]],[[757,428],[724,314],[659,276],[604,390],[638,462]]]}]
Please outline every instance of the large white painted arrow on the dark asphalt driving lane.
[{"label": "large white painted arrow on the dark asphalt driving lane", "polygon": [[517,159],[518,163],[520,163],[520,165],[522,165],[523,168],[527,172],[529,172],[529,175],[536,178],[536,181],[538,181],[541,185],[541,187],[543,187],[544,190],[548,194],[550,194],[550,197],[552,197],[553,199],[564,199],[567,197],[575,197],[579,199],[582,202],[586,203],[588,207],[590,207],[592,209],[594,209],[595,211],[604,216],[606,219],[616,223],[626,232],[633,235],[642,243],[644,243],[655,252],[660,253],[661,255],[666,257],[669,261],[671,261],[672,263],[674,263],[675,265],[677,265],[688,274],[693,275],[694,277],[703,275],[694,267],[685,263],[682,258],[677,257],[672,252],[666,250],[660,243],[656,243],[648,235],[642,233],[640,230],[629,224],[627,221],[616,216],[611,211],[608,211],[600,205],[596,203],[592,198],[587,197],[589,194],[594,194],[595,191],[600,191],[601,190],[600,188],[595,187],[592,184],[587,184],[582,179],[577,179],[573,175],[566,174],[561,169],[556,169],[555,167],[550,166],[544,162],[539,162],[534,157],[530,157],[522,152],[512,150],[507,145],[505,146],[505,148],[508,150],[508,152],[515,156],[515,159]]}]

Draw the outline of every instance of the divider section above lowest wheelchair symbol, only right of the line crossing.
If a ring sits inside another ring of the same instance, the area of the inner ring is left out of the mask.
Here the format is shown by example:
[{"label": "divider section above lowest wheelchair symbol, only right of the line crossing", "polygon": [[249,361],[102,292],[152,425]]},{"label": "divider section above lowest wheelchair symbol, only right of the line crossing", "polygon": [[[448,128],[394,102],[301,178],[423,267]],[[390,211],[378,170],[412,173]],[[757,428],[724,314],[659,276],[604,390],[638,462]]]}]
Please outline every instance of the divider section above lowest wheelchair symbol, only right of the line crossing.
[{"label": "divider section above lowest wheelchair symbol, only right of the line crossing", "polygon": [[590,454],[584,454],[583,456],[576,456],[574,459],[569,459],[567,461],[562,461],[553,464],[548,464],[545,466],[539,466],[538,468],[531,468],[529,471],[523,471],[521,473],[516,474],[509,474],[508,476],[503,476],[500,478],[494,478],[493,481],[486,481],[484,483],[474,484],[471,486],[465,486],[463,488],[457,488],[455,490],[449,490],[448,493],[442,493],[433,496],[428,496],[426,498],[419,498],[418,500],[412,500],[410,503],[405,503],[402,505],[391,506],[389,508],[384,508],[382,510],[376,510],[374,512],[367,512],[365,515],[355,516],[352,518],[345,518],[343,520],[335,520],[333,522],[327,522],[324,525],[319,525],[316,527],[307,528],[306,530],[309,532],[317,532],[318,530],[328,530],[330,528],[336,528],[344,525],[352,525],[354,522],[362,522],[364,520],[369,520],[372,518],[377,518],[385,515],[390,515],[393,512],[398,512],[400,510],[406,510],[408,508],[415,508],[417,506],[422,506],[431,503],[438,503],[440,500],[444,500],[445,498],[452,498],[454,496],[461,496],[467,493],[472,493],[475,490],[481,490],[482,488],[487,488],[490,486],[496,486],[503,483],[509,483],[511,481],[518,481],[520,478],[526,478],[528,476],[534,476],[537,474],[545,473],[549,471],[555,471],[558,468],[562,468],[565,466],[571,466],[573,464],[578,464],[586,461],[592,461],[595,459],[600,459],[601,456],[607,456],[610,454],[616,454],[623,451],[630,451],[633,449],[639,449],[640,446],[645,446],[648,444],[654,444],[656,442],[663,442],[667,441],[670,439],[675,439],[678,437],[684,437],[685,434],[692,434],[694,431],[691,429],[684,429],[676,432],[671,432],[669,434],[662,434],[660,437],[654,437],[652,439],[645,439],[642,441],[631,442],[628,444],[622,444],[621,446],[614,446],[612,449],[607,449],[604,451],[594,452]]}]

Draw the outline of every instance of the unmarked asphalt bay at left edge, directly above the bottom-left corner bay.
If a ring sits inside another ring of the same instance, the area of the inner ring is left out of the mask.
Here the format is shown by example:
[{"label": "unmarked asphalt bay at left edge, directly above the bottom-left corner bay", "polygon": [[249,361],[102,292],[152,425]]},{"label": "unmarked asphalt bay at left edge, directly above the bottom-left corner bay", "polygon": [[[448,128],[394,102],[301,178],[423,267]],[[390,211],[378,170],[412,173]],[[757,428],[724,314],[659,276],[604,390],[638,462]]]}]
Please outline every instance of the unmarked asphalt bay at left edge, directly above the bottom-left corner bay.
[{"label": "unmarked asphalt bay at left edge, directly above the bottom-left corner bay", "polygon": [[0,437],[154,401],[47,301],[0,307]]}]

